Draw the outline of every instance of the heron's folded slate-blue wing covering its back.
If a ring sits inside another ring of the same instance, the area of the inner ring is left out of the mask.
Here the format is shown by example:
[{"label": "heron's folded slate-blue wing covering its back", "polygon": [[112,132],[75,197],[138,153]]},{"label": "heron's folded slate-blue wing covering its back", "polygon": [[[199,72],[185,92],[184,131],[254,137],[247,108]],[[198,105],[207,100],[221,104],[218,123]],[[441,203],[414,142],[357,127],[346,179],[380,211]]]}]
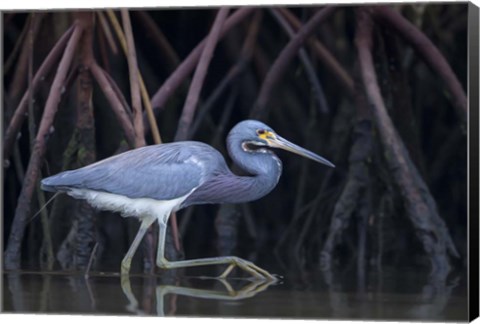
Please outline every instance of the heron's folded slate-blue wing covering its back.
[{"label": "heron's folded slate-blue wing covering its back", "polygon": [[62,172],[44,179],[42,185],[168,200],[184,196],[200,186],[217,154],[221,157],[213,148],[197,142],[146,146],[81,169]]}]

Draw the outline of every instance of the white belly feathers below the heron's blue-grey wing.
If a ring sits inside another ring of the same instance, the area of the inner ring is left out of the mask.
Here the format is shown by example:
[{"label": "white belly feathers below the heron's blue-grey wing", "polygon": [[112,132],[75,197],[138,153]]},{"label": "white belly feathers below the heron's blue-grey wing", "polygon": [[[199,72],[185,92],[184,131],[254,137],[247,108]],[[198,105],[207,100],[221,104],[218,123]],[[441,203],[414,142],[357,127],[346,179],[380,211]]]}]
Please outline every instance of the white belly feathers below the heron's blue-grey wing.
[{"label": "white belly feathers below the heron's blue-grey wing", "polygon": [[76,199],[85,199],[95,208],[119,212],[123,217],[155,217],[160,221],[166,222],[170,213],[176,211],[193,190],[185,196],[170,200],[128,198],[89,189],[72,189],[67,194]]}]

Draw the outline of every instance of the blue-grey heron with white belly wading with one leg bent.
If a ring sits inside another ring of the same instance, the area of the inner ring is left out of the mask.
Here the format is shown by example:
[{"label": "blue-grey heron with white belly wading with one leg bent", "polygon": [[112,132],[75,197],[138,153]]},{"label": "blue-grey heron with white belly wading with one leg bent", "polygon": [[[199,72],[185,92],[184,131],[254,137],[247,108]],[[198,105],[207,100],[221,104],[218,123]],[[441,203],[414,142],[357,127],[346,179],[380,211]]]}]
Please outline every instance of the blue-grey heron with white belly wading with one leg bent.
[{"label": "blue-grey heron with white belly wading with one leg bent", "polygon": [[125,255],[121,273],[130,270],[132,257],[152,223],[159,224],[156,264],[171,269],[228,264],[225,278],[236,266],[257,278],[274,280],[267,271],[235,256],[183,261],[165,258],[165,235],[171,213],[199,204],[244,203],[268,194],[282,172],[280,159],[270,148],[284,149],[314,161],[334,165],[277,135],[255,120],[238,123],[227,137],[233,161],[249,176],[232,173],[223,156],[211,146],[193,141],[137,148],[89,166],[42,180],[42,189],[65,192],[92,206],[122,216],[137,217],[140,229]]}]

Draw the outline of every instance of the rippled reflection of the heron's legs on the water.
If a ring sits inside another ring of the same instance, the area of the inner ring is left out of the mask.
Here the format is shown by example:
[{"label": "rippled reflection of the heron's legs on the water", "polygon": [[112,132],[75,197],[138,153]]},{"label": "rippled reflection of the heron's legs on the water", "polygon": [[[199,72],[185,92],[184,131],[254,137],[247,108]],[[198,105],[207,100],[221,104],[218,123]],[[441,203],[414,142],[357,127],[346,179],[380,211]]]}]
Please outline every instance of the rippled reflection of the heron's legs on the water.
[{"label": "rippled reflection of the heron's legs on the water", "polygon": [[[203,284],[207,281],[213,281],[214,287],[211,289],[194,287],[195,280],[184,280],[182,282],[168,283],[164,278],[158,278],[160,281],[157,284],[154,278],[155,289],[155,311],[157,316],[175,315],[176,310],[176,296],[187,296],[193,298],[203,298],[211,300],[235,301],[246,298],[251,298],[258,293],[265,291],[272,284],[278,284],[278,281],[272,280],[258,280],[253,281],[247,279],[218,279],[218,278],[196,278],[201,280]],[[130,276],[124,275],[120,277],[122,291],[128,299],[126,309],[137,315],[150,315],[151,311],[148,309],[149,303],[142,303],[140,306],[135,294],[132,291]],[[202,285],[203,286],[203,285]],[[235,288],[234,288],[235,286]],[[171,303],[169,305],[165,302],[165,297],[172,295]],[[147,309],[145,309],[147,308]]]}]

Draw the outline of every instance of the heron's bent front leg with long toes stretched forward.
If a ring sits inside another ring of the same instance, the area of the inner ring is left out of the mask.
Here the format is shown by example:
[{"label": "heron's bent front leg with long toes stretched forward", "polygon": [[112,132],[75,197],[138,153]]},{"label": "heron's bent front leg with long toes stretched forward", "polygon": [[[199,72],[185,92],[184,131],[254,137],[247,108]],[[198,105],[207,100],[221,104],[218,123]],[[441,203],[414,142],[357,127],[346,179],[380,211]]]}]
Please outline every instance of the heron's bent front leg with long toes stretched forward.
[{"label": "heron's bent front leg with long toes stretched forward", "polygon": [[166,222],[159,221],[159,233],[158,233],[158,247],[157,247],[157,266],[162,269],[175,269],[183,267],[195,267],[205,265],[217,265],[228,264],[228,268],[220,275],[220,278],[225,278],[228,274],[237,266],[240,269],[250,273],[257,279],[268,279],[276,281],[277,278],[270,274],[268,271],[256,266],[250,261],[241,259],[235,256],[223,256],[215,258],[182,260],[182,261],[168,261],[165,258],[165,236],[167,234]]}]

